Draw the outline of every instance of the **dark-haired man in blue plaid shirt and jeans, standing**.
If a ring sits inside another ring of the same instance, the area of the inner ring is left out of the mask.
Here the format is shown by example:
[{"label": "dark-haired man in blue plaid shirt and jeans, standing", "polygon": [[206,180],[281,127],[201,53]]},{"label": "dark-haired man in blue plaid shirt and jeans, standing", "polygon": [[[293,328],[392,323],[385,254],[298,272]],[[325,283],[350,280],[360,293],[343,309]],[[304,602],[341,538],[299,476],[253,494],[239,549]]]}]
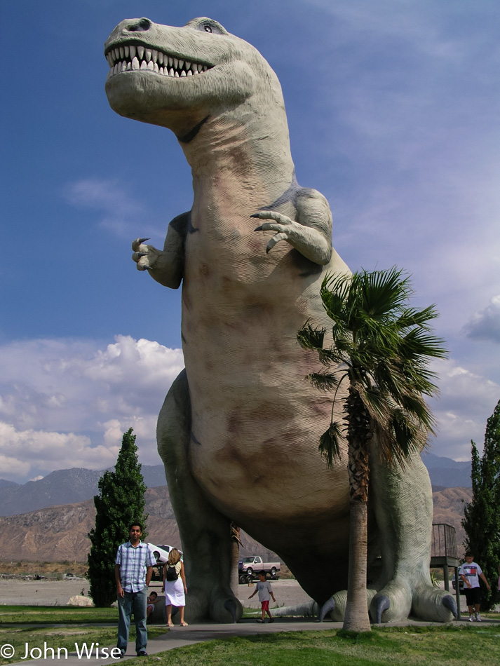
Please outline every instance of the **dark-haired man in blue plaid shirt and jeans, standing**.
[{"label": "dark-haired man in blue plaid shirt and jeans, standing", "polygon": [[123,657],[128,644],[130,617],[134,613],[135,652],[138,657],[147,657],[147,587],[156,560],[147,543],[141,541],[142,525],[130,525],[129,536],[130,541],[119,546],[114,565],[119,609],[117,647]]}]

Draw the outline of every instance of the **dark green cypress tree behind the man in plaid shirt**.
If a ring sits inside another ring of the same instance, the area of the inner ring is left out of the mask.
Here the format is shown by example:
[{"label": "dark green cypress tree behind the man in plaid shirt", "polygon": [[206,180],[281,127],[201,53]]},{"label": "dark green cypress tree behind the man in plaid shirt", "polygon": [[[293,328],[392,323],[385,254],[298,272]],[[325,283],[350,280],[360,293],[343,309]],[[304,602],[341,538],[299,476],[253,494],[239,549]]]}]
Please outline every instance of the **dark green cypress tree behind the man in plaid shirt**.
[{"label": "dark green cypress tree behind the man in plaid shirt", "polygon": [[114,472],[104,472],[99,480],[99,494],[94,497],[95,527],[88,538],[90,597],[103,608],[116,601],[114,559],[121,543],[128,541],[130,524],[143,526],[142,541],[147,536],[144,492],[147,487],[137,461],[137,447],[132,428],[123,435]]}]

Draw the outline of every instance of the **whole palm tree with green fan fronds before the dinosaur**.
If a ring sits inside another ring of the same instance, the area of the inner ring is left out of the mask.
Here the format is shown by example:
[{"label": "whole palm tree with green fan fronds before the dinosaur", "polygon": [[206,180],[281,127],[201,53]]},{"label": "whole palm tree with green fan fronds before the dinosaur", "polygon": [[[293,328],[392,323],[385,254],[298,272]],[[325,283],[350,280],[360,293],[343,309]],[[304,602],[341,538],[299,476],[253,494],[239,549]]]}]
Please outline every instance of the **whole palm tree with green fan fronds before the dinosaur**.
[{"label": "whole palm tree with green fan fronds before the dinosaur", "polygon": [[[297,334],[299,344],[316,351],[324,369],[308,375],[314,386],[335,390],[329,428],[319,451],[331,468],[340,458],[339,440],[349,447],[350,538],[347,606],[344,629],[370,631],[367,609],[367,500],[370,446],[377,442],[381,461],[404,465],[426,445],[433,417],[423,395],[437,388],[428,359],[446,355],[428,322],[438,316],[433,306],[419,310],[407,302],[412,294],[403,271],[360,271],[352,276],[326,276],[320,297],[333,321],[327,329],[308,321]],[[346,390],[339,388],[346,384]],[[342,402],[344,417],[334,421]]]}]

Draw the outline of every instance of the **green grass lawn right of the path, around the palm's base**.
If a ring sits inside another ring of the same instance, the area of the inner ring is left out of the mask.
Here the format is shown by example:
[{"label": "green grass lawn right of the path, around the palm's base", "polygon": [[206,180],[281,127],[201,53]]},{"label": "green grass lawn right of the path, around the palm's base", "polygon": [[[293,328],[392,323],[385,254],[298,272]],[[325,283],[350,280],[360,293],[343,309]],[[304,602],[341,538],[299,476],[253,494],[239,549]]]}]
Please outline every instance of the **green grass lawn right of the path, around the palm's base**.
[{"label": "green grass lawn right of the path, around the palm's base", "polygon": [[500,627],[403,627],[260,634],[153,655],[158,666],[486,666],[500,663]]}]

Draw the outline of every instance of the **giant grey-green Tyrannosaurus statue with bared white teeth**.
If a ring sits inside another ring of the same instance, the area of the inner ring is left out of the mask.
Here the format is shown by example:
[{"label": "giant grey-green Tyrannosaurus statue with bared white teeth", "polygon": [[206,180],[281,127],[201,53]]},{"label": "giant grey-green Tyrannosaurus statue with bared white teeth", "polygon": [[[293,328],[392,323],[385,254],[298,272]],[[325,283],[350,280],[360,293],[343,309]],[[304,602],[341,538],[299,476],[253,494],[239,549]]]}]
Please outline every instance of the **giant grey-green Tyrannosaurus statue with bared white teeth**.
[{"label": "giant grey-green Tyrannosaurus statue with bared white teeth", "polygon": [[[278,553],[320,606],[337,594],[341,617],[346,445],[328,470],[318,438],[331,397],[304,379],[318,360],[296,334],[309,318],[328,325],[320,283],[349,269],[332,250],[327,201],[295,179],[276,74],[208,18],[181,28],[125,20],[104,53],[112,108],[175,132],[193,175],[193,206],[170,222],[163,250],[133,243],[137,269],[165,287],[182,282],[186,369],[165,398],[158,451],[182,538],[187,619],[241,616],[231,520]],[[406,618],[412,605],[423,619],[449,620],[428,574],[424,465],[415,458],[391,473],[374,456],[372,466],[369,601],[388,606],[383,620]]]}]

